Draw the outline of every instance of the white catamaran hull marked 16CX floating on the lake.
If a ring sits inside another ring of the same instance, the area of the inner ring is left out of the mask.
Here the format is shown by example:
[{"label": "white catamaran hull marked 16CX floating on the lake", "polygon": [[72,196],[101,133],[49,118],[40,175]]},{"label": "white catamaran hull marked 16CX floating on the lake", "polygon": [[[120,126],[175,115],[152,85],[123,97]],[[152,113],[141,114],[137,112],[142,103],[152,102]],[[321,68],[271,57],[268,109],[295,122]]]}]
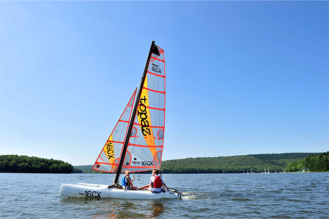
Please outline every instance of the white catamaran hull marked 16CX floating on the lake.
[{"label": "white catamaran hull marked 16CX floating on the lake", "polygon": [[113,198],[113,199],[179,199],[180,193],[171,191],[152,193],[147,190],[124,190],[117,188],[108,188],[108,185],[78,183],[62,184],[60,186],[60,195],[68,197],[90,197],[90,198]]}]

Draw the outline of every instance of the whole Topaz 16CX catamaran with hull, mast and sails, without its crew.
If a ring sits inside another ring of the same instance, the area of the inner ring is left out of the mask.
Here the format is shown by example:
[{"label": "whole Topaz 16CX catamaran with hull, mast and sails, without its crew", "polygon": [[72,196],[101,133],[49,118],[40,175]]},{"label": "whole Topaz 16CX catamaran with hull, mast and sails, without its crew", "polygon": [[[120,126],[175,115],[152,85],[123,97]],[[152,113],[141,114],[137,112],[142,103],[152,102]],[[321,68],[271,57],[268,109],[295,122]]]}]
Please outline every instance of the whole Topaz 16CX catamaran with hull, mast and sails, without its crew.
[{"label": "whole Topaz 16CX catamaran with hull, mast and sails, without its crew", "polygon": [[62,184],[60,194],[68,197],[116,199],[177,199],[182,194],[169,188],[165,192],[125,190],[119,184],[121,173],[160,168],[165,127],[164,51],[152,41],[144,73],[121,117],[92,169],[115,173],[113,184]]}]

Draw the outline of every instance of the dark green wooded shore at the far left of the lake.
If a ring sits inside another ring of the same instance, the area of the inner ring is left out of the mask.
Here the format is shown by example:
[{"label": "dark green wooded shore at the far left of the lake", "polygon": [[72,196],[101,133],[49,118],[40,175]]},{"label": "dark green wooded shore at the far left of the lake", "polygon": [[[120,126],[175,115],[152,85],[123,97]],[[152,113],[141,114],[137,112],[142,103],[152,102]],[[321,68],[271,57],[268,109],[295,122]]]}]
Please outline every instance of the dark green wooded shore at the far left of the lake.
[{"label": "dark green wooded shore at the far left of the lake", "polygon": [[2,173],[71,173],[73,165],[38,157],[0,155]]}]

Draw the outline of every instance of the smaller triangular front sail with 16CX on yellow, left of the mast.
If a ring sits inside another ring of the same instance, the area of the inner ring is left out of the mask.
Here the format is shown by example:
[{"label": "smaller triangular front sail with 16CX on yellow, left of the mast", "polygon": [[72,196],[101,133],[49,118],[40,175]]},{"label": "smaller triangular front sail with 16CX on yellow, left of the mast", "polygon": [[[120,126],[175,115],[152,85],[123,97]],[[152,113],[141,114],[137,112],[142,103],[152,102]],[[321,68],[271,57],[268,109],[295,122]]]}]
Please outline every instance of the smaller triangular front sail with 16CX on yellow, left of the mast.
[{"label": "smaller triangular front sail with 16CX on yellow, left of the mast", "polygon": [[110,173],[116,172],[120,155],[122,153],[122,147],[127,136],[127,129],[131,119],[136,90],[134,91],[133,96],[130,98],[129,103],[123,111],[119,121],[116,123],[116,127],[105,143],[105,146],[100,151],[100,154],[92,168],[93,170]]}]

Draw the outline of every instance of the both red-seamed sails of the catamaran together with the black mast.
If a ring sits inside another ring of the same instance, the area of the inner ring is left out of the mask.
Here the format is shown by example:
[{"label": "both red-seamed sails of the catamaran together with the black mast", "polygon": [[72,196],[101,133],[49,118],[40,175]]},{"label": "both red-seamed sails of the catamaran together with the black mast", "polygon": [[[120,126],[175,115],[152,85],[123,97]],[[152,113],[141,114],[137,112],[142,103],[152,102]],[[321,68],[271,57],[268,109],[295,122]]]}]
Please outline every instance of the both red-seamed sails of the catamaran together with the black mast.
[{"label": "both red-seamed sails of the catamaran together with the black mast", "polygon": [[165,126],[165,60],[164,51],[154,41],[135,95],[136,91],[100,152],[94,170],[117,173],[118,168],[123,173],[127,169],[141,172],[160,168]]}]

